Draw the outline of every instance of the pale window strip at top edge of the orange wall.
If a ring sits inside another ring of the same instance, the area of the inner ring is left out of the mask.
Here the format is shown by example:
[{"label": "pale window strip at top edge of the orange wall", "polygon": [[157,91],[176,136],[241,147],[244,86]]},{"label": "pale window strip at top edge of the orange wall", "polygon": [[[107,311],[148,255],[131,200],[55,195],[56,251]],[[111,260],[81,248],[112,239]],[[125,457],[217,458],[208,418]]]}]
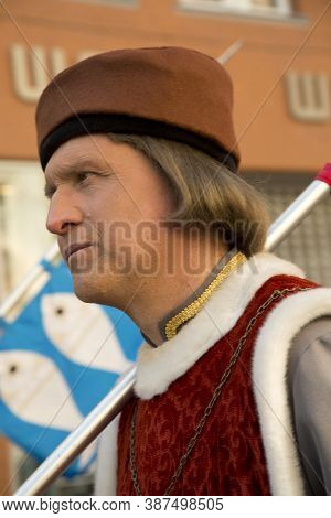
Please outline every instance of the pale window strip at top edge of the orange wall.
[{"label": "pale window strip at top edge of the orange wall", "polygon": [[211,12],[268,17],[291,14],[290,0],[179,0],[179,4]]}]

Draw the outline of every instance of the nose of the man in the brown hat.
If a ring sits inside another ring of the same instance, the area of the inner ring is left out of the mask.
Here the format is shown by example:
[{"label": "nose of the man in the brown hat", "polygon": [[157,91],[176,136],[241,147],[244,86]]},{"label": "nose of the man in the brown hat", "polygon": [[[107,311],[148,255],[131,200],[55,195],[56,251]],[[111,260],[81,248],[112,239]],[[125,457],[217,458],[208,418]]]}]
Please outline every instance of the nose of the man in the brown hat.
[{"label": "nose of the man in the brown hat", "polygon": [[[62,188],[63,187],[63,188]],[[77,206],[77,199],[71,195],[65,186],[57,187],[51,199],[46,219],[46,228],[52,234],[63,236],[71,225],[78,225],[83,220],[83,212]]]}]

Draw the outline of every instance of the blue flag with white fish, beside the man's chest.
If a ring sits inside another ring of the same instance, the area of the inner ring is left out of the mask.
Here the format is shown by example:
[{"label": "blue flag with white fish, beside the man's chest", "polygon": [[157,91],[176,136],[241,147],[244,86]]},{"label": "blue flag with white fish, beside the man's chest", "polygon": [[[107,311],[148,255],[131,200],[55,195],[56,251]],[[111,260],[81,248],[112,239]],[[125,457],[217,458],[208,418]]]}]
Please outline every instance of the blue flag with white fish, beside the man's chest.
[{"label": "blue flag with white fish, beside the man's chest", "polygon": [[[14,322],[0,322],[0,431],[44,461],[137,357],[139,328],[121,311],[87,304],[64,261]],[[63,476],[86,473],[97,439]]]}]

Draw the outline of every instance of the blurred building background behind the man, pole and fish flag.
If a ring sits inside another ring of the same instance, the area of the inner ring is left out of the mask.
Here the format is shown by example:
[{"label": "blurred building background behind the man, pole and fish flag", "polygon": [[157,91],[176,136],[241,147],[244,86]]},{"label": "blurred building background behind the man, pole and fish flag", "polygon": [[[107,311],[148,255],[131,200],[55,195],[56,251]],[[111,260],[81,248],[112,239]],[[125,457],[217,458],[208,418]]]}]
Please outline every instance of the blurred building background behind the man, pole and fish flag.
[{"label": "blurred building background behind the man, pole and fish flag", "polygon": [[[34,127],[51,77],[108,50],[179,45],[217,58],[234,43],[225,66],[242,174],[276,218],[331,161],[330,1],[0,0],[0,303],[54,242]],[[327,199],[276,250],[324,285],[330,222]],[[0,435],[0,494],[38,465],[22,467],[22,455]],[[61,477],[49,494],[90,494],[92,476]]]}]

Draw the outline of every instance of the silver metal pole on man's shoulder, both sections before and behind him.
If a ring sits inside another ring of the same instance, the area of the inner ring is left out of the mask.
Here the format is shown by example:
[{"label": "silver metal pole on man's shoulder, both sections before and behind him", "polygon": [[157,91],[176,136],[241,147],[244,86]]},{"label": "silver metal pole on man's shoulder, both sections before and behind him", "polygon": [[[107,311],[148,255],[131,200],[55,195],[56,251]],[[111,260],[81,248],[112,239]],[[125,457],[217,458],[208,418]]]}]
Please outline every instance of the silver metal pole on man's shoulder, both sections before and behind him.
[{"label": "silver metal pole on man's shoulder, both sections before and behind him", "polygon": [[[316,180],[270,226],[266,251],[274,249],[296,228],[324,196],[330,193],[331,164],[325,164]],[[300,201],[300,203],[299,203]],[[104,398],[84,421],[63,441],[60,446],[24,482],[14,496],[39,495],[78,455],[104,428],[121,411],[132,396],[136,367],[131,367],[118,385]]]}]

